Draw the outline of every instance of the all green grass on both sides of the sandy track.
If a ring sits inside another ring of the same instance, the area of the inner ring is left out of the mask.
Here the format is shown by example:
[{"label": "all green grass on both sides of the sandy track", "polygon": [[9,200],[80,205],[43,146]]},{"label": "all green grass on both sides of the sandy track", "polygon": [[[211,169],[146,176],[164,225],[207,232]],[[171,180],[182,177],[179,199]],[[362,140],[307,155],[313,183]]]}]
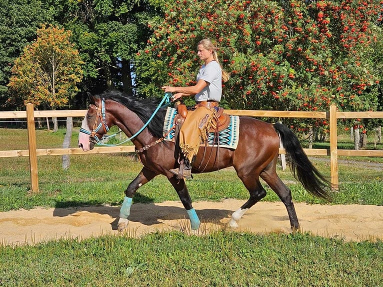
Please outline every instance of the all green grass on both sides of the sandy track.
[{"label": "all green grass on both sides of the sandy track", "polygon": [[[37,130],[37,148],[60,147],[64,130]],[[2,150],[26,149],[26,130],[0,130]],[[77,134],[73,134],[72,146]],[[332,203],[383,205],[382,158],[340,158],[340,191]],[[369,162],[367,162],[367,160]],[[326,176],[329,161],[312,158]],[[131,154],[38,157],[39,193],[29,193],[28,159],[0,158],[0,211],[34,206],[121,204],[141,164]],[[370,164],[369,163],[374,163]],[[112,168],[111,168],[112,167]],[[313,198],[289,170],[278,171],[295,202]],[[188,181],[192,200],[248,197],[235,172],[198,174]],[[263,200],[276,201],[266,189]],[[179,200],[164,176],[142,186],[134,202]],[[101,236],[34,246],[0,244],[0,286],[382,286],[383,242],[344,242],[309,234],[219,230],[205,236],[181,232],[142,238]]]}]

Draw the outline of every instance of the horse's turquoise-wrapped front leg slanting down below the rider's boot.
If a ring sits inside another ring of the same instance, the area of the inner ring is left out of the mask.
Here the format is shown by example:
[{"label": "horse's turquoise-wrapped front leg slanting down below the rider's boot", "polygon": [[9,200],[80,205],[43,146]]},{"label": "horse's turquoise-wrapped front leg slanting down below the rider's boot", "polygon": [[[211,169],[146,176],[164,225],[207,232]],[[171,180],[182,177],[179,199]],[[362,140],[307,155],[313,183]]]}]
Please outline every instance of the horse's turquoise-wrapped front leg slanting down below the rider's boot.
[{"label": "horse's turquoise-wrapped front leg slanting down below the rider's boot", "polygon": [[175,191],[181,199],[183,207],[185,207],[187,215],[189,215],[191,230],[197,230],[201,222],[199,221],[198,215],[195,212],[195,209],[191,205],[191,198],[189,191],[187,190],[185,180],[177,179],[175,176],[168,178],[171,185],[173,185]]}]

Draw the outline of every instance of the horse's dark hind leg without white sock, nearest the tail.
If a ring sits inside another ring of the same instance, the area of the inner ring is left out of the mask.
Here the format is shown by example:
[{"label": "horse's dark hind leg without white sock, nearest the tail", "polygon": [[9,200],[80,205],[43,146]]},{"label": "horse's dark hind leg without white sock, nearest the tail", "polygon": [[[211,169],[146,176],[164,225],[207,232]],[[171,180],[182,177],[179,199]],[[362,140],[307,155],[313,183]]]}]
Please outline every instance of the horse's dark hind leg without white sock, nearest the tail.
[{"label": "horse's dark hind leg without white sock, nearest the tail", "polygon": [[260,173],[260,177],[275,191],[284,206],[286,206],[291,230],[296,231],[299,229],[298,217],[296,216],[294,203],[292,202],[291,191],[276,174],[275,165],[270,166],[269,170],[263,170]]}]

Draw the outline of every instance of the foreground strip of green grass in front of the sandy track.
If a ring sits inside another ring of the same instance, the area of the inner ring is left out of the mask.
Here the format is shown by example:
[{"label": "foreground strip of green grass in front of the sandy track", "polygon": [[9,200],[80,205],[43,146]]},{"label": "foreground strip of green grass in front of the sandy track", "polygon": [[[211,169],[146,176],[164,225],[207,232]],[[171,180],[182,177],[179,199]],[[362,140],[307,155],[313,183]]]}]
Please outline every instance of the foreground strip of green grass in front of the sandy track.
[{"label": "foreground strip of green grass in front of the sandy track", "polygon": [[381,286],[383,242],[216,231],[0,246],[3,286]]}]

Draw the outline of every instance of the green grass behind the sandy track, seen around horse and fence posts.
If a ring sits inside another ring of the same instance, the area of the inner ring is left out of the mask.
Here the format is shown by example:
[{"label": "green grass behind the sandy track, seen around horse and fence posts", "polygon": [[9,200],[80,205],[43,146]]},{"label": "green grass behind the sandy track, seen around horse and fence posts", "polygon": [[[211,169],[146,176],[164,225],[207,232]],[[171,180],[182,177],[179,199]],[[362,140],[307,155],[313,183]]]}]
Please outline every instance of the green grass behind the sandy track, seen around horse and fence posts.
[{"label": "green grass behind the sandy track, seen around horse and fence posts", "polygon": [[[78,129],[78,128],[77,128]],[[76,146],[78,130],[73,132],[71,146]],[[25,130],[2,130],[2,149],[24,149]],[[37,148],[59,147],[64,130],[49,132],[36,130]],[[310,157],[314,165],[329,176],[328,158]],[[372,161],[373,158],[369,158]],[[0,211],[35,206],[67,207],[94,204],[121,204],[128,183],[138,174],[142,165],[132,154],[71,155],[70,167],[63,170],[61,156],[38,156],[39,193],[29,193],[30,178],[27,157],[0,158]],[[353,160],[349,158],[348,160]],[[112,167],[112,168],[111,168]],[[361,169],[363,172],[360,172]],[[312,197],[297,183],[287,168],[278,174],[290,187],[295,202],[324,203]],[[332,203],[383,205],[383,176],[378,168],[363,167],[363,163],[339,162],[340,192]],[[265,185],[265,184],[264,184]],[[232,168],[218,172],[196,174],[187,181],[192,200],[220,200],[221,198],[248,198],[248,192]],[[279,198],[267,186],[263,200]],[[157,176],[143,185],[134,196],[134,202],[161,202],[179,200],[164,176]]]}]

